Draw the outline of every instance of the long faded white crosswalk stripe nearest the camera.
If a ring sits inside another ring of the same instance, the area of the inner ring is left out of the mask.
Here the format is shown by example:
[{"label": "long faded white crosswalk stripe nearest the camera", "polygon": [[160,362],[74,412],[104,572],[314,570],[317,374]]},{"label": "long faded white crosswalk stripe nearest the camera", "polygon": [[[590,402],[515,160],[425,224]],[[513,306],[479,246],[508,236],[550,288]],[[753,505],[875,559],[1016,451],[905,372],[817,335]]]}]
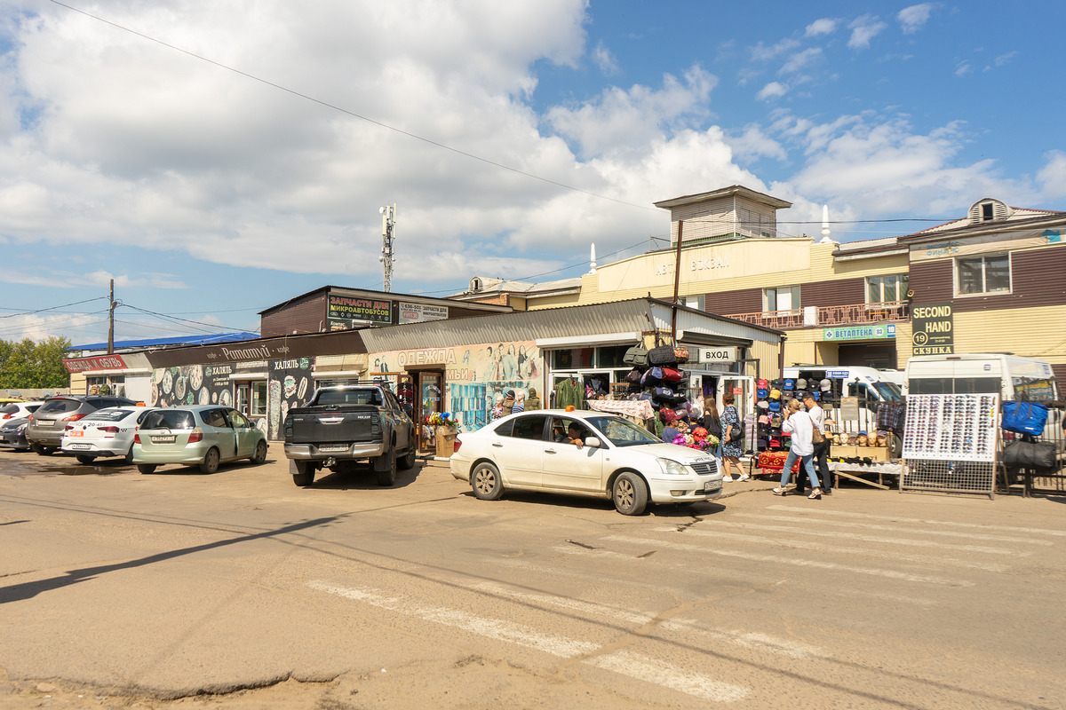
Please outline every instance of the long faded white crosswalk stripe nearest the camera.
[{"label": "long faded white crosswalk stripe nearest the camera", "polygon": [[693,673],[634,651],[613,650],[599,654],[603,647],[596,643],[578,641],[558,634],[540,633],[519,624],[478,616],[458,609],[420,607],[374,591],[339,587],[322,580],[308,581],[307,585],[320,592],[362,601],[408,616],[417,616],[423,621],[435,622],[489,639],[534,648],[559,658],[583,657],[580,661],[584,664],[647,683],[669,688],[712,703],[733,703],[743,699],[750,692],[743,686],[715,680],[701,673]]}]

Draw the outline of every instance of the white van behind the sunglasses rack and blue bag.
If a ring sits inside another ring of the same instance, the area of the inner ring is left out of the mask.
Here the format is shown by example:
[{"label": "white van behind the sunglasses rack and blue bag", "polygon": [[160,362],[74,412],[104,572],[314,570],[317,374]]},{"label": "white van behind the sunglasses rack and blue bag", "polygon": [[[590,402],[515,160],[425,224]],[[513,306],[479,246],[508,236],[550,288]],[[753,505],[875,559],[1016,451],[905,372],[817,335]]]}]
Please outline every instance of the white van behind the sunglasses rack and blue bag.
[{"label": "white van behind the sunglasses rack and blue bag", "polygon": [[907,361],[912,395],[997,393],[1000,401],[1055,401],[1051,363],[1003,352],[916,356]]}]

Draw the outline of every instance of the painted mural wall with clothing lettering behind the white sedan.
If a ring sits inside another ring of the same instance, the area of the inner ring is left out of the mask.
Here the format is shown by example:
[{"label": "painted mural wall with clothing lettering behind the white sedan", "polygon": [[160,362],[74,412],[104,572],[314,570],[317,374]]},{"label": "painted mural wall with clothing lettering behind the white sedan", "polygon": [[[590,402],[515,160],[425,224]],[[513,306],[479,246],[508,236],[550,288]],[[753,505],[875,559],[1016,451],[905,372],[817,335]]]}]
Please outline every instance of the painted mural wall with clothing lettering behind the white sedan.
[{"label": "painted mural wall with clothing lettering behind the white sedan", "polygon": [[374,353],[371,363],[372,370],[389,373],[440,365],[447,381],[445,408],[459,420],[461,431],[488,424],[497,394],[514,390],[528,395],[531,387],[544,394],[544,358],[533,341],[382,352]]}]

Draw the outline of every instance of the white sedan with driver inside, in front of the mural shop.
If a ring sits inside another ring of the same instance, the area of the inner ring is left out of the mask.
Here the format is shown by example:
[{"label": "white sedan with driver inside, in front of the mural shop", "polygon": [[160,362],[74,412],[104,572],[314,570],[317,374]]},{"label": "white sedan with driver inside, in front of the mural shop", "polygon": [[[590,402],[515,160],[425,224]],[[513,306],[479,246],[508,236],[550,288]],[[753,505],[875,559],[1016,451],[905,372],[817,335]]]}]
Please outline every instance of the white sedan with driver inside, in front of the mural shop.
[{"label": "white sedan with driver inside, in front of the mural shop", "polygon": [[496,500],[505,490],[565,493],[610,498],[619,513],[640,515],[648,502],[722,495],[713,456],[664,444],[613,414],[512,414],[458,434],[454,448],[452,476],[469,482],[482,500]]}]

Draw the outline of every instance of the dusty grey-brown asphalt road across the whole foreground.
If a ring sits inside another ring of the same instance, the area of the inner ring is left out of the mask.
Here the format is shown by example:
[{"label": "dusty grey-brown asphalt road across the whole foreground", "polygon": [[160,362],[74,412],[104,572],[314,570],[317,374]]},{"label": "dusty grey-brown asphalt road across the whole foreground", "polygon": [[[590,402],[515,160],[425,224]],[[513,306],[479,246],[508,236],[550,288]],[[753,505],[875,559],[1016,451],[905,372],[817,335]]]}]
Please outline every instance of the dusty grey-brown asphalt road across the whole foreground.
[{"label": "dusty grey-brown asphalt road across the whole foreground", "polygon": [[[0,452],[2,708],[1062,708],[1066,498],[625,517]],[[182,699],[183,698],[183,699]]]}]

